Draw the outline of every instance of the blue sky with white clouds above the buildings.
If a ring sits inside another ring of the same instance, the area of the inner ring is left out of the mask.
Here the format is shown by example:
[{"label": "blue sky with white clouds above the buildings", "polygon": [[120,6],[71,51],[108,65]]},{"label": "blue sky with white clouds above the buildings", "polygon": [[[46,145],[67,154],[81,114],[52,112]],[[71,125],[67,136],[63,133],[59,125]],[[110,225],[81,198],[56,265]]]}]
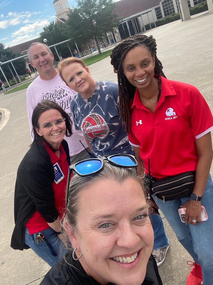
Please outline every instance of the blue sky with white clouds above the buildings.
[{"label": "blue sky with white clouds above the buildings", "polygon": [[[14,46],[39,36],[55,21],[53,0],[0,0],[0,42]],[[68,0],[70,7],[74,0]]]}]

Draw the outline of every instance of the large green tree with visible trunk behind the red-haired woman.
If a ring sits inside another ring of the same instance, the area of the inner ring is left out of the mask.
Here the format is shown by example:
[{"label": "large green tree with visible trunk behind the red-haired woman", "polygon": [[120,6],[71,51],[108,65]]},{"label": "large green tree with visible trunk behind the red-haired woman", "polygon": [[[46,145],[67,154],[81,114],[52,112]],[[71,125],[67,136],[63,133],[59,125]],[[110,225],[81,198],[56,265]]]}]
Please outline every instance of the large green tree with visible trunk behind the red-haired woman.
[{"label": "large green tree with visible trunk behind the red-haired woman", "polygon": [[[68,13],[64,31],[69,38],[82,45],[95,39],[96,43],[106,32],[115,32],[121,19],[112,13],[117,3],[113,0],[77,0],[77,5]],[[97,44],[99,54],[101,50]]]}]

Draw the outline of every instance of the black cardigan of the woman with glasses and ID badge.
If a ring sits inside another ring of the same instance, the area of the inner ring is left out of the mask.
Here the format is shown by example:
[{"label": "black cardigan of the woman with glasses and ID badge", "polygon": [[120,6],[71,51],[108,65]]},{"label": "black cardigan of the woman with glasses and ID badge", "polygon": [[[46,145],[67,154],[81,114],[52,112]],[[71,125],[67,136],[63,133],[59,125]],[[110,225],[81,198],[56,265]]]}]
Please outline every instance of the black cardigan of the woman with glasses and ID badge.
[{"label": "black cardigan of the woman with glasses and ID badge", "polygon": [[[68,144],[62,146],[70,165]],[[47,223],[54,222],[59,213],[55,207],[52,183],[54,169],[51,158],[42,144],[34,144],[22,159],[18,171],[14,193],[15,227],[11,238],[13,249],[29,249],[24,243],[24,226],[37,210]]]}]

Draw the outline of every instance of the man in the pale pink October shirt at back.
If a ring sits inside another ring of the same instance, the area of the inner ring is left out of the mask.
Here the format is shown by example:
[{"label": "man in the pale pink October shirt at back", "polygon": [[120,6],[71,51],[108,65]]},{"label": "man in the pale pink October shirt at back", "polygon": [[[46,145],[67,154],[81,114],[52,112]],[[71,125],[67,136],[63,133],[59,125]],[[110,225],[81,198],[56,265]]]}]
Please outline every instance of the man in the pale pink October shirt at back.
[{"label": "man in the pale pink October shirt at back", "polygon": [[[32,113],[36,105],[41,100],[52,100],[62,107],[71,117],[70,101],[75,92],[71,90],[62,81],[58,70],[53,64],[54,56],[51,50],[41,42],[34,42],[28,49],[28,57],[30,64],[36,68],[39,76],[30,84],[27,89],[27,113],[30,124],[30,132],[32,131]],[[70,149],[70,162],[75,163],[80,160],[89,158],[89,155],[83,145],[88,148],[83,134],[73,128],[73,135],[69,138],[64,138]],[[33,140],[33,137],[32,137]]]}]

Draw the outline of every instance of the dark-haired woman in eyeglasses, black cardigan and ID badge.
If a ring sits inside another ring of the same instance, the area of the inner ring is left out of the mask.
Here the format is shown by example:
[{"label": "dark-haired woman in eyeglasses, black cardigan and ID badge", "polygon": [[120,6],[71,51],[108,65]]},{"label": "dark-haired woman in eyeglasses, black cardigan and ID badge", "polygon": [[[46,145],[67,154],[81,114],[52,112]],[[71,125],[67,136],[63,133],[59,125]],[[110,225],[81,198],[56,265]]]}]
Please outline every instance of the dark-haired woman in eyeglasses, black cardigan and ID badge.
[{"label": "dark-haired woman in eyeglasses, black cardigan and ID badge", "polygon": [[22,159],[15,184],[13,249],[31,248],[50,266],[66,252],[60,219],[64,214],[70,155],[64,135],[72,135],[68,114],[43,100],[32,114],[34,141]]}]

